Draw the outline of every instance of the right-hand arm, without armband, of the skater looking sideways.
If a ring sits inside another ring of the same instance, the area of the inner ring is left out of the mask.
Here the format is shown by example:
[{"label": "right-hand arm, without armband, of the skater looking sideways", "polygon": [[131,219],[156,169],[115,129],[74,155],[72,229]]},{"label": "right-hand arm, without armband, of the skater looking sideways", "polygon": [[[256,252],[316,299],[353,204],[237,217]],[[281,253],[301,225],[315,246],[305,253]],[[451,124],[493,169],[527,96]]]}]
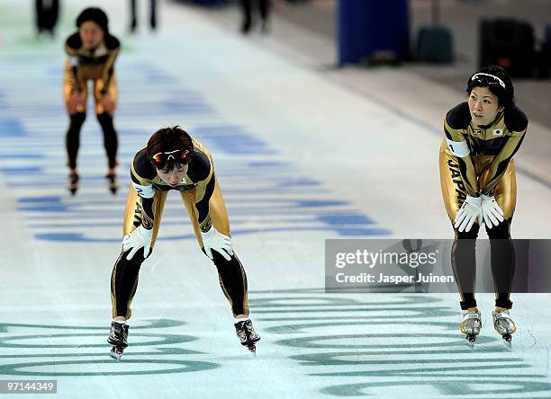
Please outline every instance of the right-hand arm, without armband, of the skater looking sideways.
[{"label": "right-hand arm, without armband, of the skater looking sideways", "polygon": [[507,170],[510,159],[519,150],[528,129],[528,119],[524,112],[514,108],[505,114],[505,126],[510,134],[508,137],[504,137],[507,140],[505,145],[501,147],[498,155],[493,158],[492,164],[488,166],[488,179],[484,187],[481,188],[484,195],[491,195]]}]

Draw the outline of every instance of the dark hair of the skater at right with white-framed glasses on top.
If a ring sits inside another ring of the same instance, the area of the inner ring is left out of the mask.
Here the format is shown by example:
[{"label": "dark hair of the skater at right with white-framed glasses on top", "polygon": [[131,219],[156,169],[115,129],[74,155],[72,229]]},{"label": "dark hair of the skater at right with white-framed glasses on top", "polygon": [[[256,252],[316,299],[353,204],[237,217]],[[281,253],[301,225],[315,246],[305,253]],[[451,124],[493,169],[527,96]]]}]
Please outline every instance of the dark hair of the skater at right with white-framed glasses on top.
[{"label": "dark hair of the skater at right with white-framed glasses on top", "polygon": [[467,82],[466,93],[470,94],[474,87],[488,87],[490,92],[498,98],[500,106],[509,108],[515,105],[515,89],[509,74],[502,67],[495,65],[483,67],[471,75]]}]

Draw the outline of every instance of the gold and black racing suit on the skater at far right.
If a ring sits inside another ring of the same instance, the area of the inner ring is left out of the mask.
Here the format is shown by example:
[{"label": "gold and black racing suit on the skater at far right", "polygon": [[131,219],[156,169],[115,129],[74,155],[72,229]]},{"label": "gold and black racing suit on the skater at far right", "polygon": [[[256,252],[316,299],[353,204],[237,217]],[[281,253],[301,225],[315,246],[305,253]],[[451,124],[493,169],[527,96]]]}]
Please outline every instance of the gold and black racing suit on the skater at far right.
[{"label": "gold and black racing suit on the skater at far right", "polygon": [[[447,112],[445,137],[440,146],[440,184],[447,216],[454,222],[467,195],[494,196],[505,220],[486,227],[490,238],[491,262],[496,306],[510,308],[510,290],[515,269],[515,253],[510,240],[510,222],[517,200],[517,182],[513,155],[522,144],[528,119],[518,107],[498,113],[488,126],[471,120],[467,102]],[[452,267],[461,294],[461,308],[476,306],[475,240],[481,220],[468,232],[455,229]]]}]

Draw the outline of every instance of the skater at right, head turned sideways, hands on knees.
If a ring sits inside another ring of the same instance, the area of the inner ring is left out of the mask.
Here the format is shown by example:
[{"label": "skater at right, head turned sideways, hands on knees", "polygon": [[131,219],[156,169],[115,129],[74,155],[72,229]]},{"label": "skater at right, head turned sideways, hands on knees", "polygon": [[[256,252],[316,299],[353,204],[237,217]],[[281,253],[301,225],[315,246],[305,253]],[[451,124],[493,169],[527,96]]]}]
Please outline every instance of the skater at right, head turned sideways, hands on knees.
[{"label": "skater at right, head turned sideways, hands on knees", "polygon": [[496,296],[493,326],[510,346],[516,330],[510,318],[515,270],[510,223],[517,199],[512,157],[526,134],[528,119],[515,106],[513,85],[501,67],[486,67],[472,75],[466,93],[467,102],[447,112],[439,154],[442,195],[456,235],[451,261],[461,295],[461,332],[472,345],[482,328],[474,286],[475,240],[484,224]]}]

